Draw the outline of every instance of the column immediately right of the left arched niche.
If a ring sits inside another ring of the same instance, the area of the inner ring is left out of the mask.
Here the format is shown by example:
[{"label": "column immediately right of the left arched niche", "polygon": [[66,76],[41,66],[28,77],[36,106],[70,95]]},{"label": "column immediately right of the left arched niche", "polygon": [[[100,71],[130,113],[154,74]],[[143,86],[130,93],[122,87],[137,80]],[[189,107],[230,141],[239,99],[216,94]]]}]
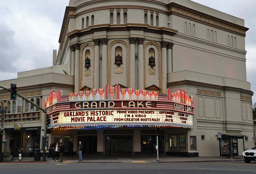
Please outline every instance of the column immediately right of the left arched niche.
[{"label": "column immediately right of the left arched niche", "polygon": [[[93,39],[95,47],[95,73],[94,73],[94,86],[93,88],[100,88],[100,66],[98,65],[100,61],[100,39]],[[98,67],[97,67],[98,66]]]}]

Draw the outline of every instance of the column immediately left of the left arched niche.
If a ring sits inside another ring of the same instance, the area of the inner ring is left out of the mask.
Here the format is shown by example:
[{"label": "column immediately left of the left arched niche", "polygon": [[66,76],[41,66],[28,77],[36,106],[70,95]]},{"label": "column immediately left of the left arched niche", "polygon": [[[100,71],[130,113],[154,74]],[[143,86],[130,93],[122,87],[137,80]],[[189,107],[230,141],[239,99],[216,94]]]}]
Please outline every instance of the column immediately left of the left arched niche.
[{"label": "column immediately left of the left arched niche", "polygon": [[79,91],[79,53],[80,53],[80,44],[75,43],[75,92]]}]

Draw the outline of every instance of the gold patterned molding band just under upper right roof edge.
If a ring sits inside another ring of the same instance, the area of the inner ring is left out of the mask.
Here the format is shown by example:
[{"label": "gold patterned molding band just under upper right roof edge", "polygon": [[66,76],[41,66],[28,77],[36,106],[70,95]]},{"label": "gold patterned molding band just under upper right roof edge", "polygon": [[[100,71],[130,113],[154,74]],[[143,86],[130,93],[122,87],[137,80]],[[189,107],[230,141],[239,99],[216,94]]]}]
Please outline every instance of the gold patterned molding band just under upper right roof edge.
[{"label": "gold patterned molding band just under upper right roof edge", "polygon": [[203,17],[202,15],[196,15],[196,14],[187,12],[185,10],[182,10],[181,8],[171,7],[169,9],[169,12],[175,12],[175,13],[178,13],[178,14],[183,15],[185,17],[193,18],[195,20],[205,22],[205,23],[208,23],[210,25],[215,25],[217,27],[224,28],[226,30],[231,30],[233,32],[240,33],[242,35],[246,34],[246,31],[244,31],[244,30],[241,30],[241,29],[238,29],[238,28],[235,28],[235,27],[231,27],[229,25],[226,25],[225,23],[217,22],[217,21],[212,20],[210,18]]}]

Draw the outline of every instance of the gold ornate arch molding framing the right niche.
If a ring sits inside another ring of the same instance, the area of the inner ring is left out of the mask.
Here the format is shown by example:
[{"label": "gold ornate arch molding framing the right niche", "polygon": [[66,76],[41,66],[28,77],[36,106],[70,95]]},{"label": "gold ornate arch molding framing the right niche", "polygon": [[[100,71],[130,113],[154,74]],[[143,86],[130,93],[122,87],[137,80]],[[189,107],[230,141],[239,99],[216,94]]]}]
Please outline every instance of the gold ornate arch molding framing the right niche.
[{"label": "gold ornate arch molding framing the right niche", "polygon": [[146,88],[146,48],[148,45],[153,44],[158,49],[158,79],[159,79],[159,93],[162,93],[162,53],[161,48],[155,41],[148,41],[143,47],[143,85]]}]

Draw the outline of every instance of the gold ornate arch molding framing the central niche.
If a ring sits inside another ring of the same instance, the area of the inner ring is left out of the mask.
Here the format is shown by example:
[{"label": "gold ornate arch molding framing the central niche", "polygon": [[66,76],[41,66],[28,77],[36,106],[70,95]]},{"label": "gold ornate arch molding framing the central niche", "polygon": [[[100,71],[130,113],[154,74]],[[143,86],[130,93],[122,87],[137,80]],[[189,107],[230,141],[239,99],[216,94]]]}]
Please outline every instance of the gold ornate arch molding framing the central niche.
[{"label": "gold ornate arch molding framing the central niche", "polygon": [[115,43],[123,43],[126,47],[126,86],[127,88],[130,88],[130,47],[128,45],[128,43],[122,39],[115,39],[112,42],[110,42],[109,46],[108,46],[108,79],[107,79],[107,83],[108,85],[111,85],[111,47],[115,44]]}]

